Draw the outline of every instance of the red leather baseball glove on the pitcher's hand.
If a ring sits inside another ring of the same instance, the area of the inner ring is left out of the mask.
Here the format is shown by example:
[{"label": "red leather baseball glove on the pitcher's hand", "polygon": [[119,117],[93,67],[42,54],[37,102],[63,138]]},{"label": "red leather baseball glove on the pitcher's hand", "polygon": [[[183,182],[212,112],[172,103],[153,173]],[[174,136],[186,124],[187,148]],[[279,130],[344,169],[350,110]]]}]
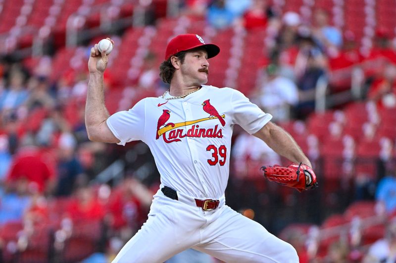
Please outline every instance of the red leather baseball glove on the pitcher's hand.
[{"label": "red leather baseball glove on the pitcher's hand", "polygon": [[316,175],[306,164],[291,164],[287,167],[274,165],[263,166],[264,176],[272,182],[296,188],[299,192],[317,187]]}]

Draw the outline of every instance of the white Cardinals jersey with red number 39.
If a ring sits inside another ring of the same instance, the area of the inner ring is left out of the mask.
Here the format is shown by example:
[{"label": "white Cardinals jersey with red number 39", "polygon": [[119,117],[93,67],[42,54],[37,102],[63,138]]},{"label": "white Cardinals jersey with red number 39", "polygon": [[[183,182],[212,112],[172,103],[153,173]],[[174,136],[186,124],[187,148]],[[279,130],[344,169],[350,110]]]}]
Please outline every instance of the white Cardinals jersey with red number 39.
[{"label": "white Cardinals jersey with red number 39", "polygon": [[134,140],[148,145],[163,186],[219,199],[227,186],[234,124],[253,134],[271,114],[231,88],[202,85],[185,98],[166,98],[145,98],[111,115],[107,126],[119,145]]}]

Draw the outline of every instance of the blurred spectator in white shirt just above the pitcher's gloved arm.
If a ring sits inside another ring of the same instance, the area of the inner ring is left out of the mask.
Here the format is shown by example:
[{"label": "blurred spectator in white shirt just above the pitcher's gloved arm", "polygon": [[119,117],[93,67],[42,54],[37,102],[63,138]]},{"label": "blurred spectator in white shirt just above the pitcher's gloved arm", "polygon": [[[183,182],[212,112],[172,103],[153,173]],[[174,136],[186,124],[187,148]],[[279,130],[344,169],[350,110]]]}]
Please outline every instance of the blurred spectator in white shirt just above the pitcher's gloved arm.
[{"label": "blurred spectator in white shirt just above the pitcher's gloved arm", "polygon": [[267,81],[260,92],[260,108],[271,113],[275,121],[290,119],[291,109],[298,103],[297,85],[285,76],[280,75],[279,67],[275,64],[266,67]]}]

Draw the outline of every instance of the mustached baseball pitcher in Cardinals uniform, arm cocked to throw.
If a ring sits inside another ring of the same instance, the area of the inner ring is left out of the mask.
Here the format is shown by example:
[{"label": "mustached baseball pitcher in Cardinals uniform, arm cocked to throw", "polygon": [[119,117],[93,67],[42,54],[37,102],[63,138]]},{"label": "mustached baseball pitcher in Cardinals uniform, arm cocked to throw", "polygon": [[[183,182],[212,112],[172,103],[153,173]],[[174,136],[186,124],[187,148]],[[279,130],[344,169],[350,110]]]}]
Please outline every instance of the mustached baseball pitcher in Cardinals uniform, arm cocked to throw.
[{"label": "mustached baseball pitcher in Cardinals uniform, arm cocked to throw", "polygon": [[90,140],[119,145],[141,140],[161,175],[147,222],[114,263],[161,263],[188,248],[227,263],[298,263],[290,244],[226,205],[235,124],[299,164],[263,167],[268,179],[303,190],[316,178],[308,158],[270,114],[235,89],[204,85],[209,59],[219,52],[195,34],[171,39],[160,66],[169,91],[109,116],[103,95],[108,58],[97,45],[91,49],[85,115]]}]

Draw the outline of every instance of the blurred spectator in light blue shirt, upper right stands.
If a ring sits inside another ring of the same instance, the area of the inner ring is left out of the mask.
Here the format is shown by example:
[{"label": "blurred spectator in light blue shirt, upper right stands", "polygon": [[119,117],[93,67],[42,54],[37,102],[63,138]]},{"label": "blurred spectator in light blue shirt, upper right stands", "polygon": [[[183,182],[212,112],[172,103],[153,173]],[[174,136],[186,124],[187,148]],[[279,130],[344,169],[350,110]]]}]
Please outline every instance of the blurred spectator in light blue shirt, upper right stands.
[{"label": "blurred spectator in light blue shirt, upper right stands", "polygon": [[324,45],[327,53],[337,52],[343,45],[340,30],[329,24],[329,14],[324,9],[317,9],[314,13],[313,35]]}]

